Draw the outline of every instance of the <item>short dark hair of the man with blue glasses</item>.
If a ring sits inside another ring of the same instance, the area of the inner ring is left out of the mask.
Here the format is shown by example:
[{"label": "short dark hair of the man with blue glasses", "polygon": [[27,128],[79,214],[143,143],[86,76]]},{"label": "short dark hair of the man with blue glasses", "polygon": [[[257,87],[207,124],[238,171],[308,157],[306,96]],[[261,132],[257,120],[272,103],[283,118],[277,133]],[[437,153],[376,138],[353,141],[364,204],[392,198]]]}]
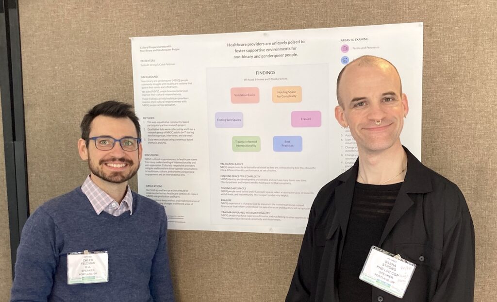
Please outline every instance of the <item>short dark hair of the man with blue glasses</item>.
[{"label": "short dark hair of the man with blue glasses", "polygon": [[140,122],[135,112],[132,110],[133,105],[120,102],[120,101],[104,101],[95,105],[93,108],[88,110],[83,116],[81,121],[81,138],[88,144],[88,138],[90,135],[90,125],[95,117],[98,115],[116,117],[116,118],[129,118],[135,124],[136,133],[138,138],[142,138],[142,133],[140,131]]}]

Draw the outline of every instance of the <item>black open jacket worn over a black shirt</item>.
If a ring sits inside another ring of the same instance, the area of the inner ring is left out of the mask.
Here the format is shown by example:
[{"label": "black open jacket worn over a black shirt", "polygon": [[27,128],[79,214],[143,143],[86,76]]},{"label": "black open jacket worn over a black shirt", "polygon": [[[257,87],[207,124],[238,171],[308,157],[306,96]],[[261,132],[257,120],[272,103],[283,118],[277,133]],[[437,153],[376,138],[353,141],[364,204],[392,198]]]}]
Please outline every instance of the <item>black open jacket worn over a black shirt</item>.
[{"label": "black open jacket worn over a black shirt", "polygon": [[[378,246],[417,267],[403,299],[373,287],[371,301],[472,302],[475,231],[464,196],[404,149],[406,177]],[[358,167],[356,161],[314,200],[286,302],[339,301],[338,268]]]}]

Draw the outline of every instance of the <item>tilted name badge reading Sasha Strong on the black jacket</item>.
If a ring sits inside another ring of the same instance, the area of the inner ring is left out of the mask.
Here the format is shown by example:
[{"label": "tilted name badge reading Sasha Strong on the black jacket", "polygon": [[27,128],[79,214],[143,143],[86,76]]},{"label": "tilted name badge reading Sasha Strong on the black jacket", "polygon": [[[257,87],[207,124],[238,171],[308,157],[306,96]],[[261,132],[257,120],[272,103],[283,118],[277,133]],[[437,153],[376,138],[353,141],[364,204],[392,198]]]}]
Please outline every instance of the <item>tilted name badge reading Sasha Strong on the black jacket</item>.
[{"label": "tilted name badge reading Sasha Strong on the black jacket", "polygon": [[359,279],[402,299],[413,277],[416,265],[400,255],[372,246]]}]

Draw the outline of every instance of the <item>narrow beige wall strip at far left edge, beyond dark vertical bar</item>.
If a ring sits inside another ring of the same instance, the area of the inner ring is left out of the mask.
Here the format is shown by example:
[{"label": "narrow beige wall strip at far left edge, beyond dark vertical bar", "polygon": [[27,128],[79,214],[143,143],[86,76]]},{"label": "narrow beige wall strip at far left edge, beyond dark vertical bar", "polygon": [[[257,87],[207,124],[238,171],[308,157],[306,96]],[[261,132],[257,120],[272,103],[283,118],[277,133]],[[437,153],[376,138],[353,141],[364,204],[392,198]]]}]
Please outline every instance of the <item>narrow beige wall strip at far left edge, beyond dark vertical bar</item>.
[{"label": "narrow beige wall strip at far left edge, beyond dark vertical bar", "polygon": [[[1,116],[1,106],[0,106]],[[5,186],[5,154],[3,150],[3,123],[0,121],[0,301],[10,297],[12,265],[10,258],[10,233],[8,226],[7,188]],[[5,297],[3,299],[2,297]]]}]

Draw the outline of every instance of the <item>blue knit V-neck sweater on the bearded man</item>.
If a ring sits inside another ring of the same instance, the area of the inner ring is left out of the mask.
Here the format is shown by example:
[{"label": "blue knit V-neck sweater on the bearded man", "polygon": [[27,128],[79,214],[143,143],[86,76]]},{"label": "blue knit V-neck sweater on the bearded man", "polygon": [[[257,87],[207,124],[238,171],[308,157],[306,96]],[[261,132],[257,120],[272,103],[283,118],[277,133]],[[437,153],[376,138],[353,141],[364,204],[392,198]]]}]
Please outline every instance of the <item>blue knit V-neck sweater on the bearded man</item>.
[{"label": "blue knit V-neck sweater on the bearded man", "polygon": [[[11,301],[174,301],[167,218],[133,192],[133,215],[95,213],[77,188],[40,206],[24,228]],[[108,251],[109,282],[67,284],[67,254]]]}]

